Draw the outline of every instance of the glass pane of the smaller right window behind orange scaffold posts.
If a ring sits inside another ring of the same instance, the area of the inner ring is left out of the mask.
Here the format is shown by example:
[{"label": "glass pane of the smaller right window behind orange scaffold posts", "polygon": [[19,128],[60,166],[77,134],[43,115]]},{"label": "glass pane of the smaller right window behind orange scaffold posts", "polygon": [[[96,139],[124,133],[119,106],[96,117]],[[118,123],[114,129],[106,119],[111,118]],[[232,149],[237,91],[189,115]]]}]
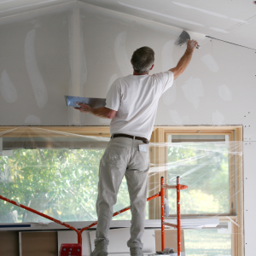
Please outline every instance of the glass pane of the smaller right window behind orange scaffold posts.
[{"label": "glass pane of the smaller right window behind orange scaffold posts", "polygon": [[[193,140],[193,136],[172,136],[173,138]],[[200,139],[212,140],[214,136]],[[219,140],[221,137],[215,139]],[[221,151],[218,150],[219,143],[180,144],[184,146],[177,147],[177,143],[170,143],[168,147],[168,163],[174,163],[168,170],[168,183],[176,183],[179,175],[181,183],[189,186],[189,189],[181,193],[181,213],[230,213],[229,143]],[[176,190],[169,189],[168,195],[170,214],[176,214]]]}]

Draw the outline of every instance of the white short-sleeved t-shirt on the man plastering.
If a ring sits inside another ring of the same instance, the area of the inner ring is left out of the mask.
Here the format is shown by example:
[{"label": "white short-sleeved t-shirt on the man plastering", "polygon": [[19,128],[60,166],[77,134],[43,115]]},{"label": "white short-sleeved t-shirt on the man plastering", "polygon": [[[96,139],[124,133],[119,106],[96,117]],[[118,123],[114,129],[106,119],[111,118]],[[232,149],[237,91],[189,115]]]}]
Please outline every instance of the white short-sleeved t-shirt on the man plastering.
[{"label": "white short-sleeved t-shirt on the man plastering", "polygon": [[105,106],[117,111],[110,134],[125,133],[149,140],[160,96],[172,83],[171,71],[116,79],[108,90]]}]

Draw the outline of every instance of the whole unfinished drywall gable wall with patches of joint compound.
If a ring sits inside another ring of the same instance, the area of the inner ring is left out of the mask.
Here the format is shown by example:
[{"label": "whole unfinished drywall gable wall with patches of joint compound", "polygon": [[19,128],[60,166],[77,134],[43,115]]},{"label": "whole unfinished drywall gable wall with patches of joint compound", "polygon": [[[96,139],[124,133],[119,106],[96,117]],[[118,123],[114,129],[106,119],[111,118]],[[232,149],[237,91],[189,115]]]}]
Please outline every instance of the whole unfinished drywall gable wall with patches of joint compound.
[{"label": "whole unfinished drywall gable wall with patches of joint compound", "polygon": [[[132,72],[141,46],[155,51],[152,73],[184,52],[173,44],[181,30],[86,3],[15,19],[0,22],[0,125],[108,125],[67,108],[64,96],[105,97],[114,79]],[[201,49],[161,97],[155,125],[244,125],[244,140],[255,142],[255,52],[191,36]],[[251,183],[254,152],[251,145],[244,155]],[[245,183],[246,252],[254,251],[254,187]]]}]

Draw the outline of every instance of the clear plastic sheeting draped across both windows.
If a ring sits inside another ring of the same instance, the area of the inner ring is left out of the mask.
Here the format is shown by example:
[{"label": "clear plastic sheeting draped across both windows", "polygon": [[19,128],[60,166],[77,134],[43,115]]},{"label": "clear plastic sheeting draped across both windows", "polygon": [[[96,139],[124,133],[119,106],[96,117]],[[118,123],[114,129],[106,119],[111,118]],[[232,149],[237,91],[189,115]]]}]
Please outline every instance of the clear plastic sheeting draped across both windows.
[{"label": "clear plastic sheeting draped across both windows", "polygon": [[[81,130],[83,127],[81,127]],[[62,131],[61,131],[62,130]],[[0,195],[61,221],[95,221],[99,163],[109,137],[65,132],[65,127],[10,128],[0,133]],[[165,183],[181,183],[182,218],[218,218],[217,226],[186,228],[186,255],[233,255],[243,247],[241,142],[149,143],[148,196]],[[169,217],[176,218],[176,189],[166,190]],[[125,177],[113,212],[130,205]],[[159,199],[147,218],[160,218]],[[113,219],[131,219],[123,212]],[[48,221],[0,201],[0,224]],[[206,220],[207,221],[207,220]],[[236,243],[236,246],[235,246]]]}]

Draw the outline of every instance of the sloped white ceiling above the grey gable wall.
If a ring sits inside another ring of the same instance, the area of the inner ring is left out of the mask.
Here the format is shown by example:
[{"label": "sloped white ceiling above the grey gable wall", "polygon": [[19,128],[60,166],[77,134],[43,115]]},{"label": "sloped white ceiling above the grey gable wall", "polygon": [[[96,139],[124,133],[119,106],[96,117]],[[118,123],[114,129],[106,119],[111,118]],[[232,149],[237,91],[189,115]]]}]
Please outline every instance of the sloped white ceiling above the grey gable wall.
[{"label": "sloped white ceiling above the grey gable wall", "polygon": [[[76,0],[0,0],[0,19]],[[253,0],[79,0],[256,49]]]}]

